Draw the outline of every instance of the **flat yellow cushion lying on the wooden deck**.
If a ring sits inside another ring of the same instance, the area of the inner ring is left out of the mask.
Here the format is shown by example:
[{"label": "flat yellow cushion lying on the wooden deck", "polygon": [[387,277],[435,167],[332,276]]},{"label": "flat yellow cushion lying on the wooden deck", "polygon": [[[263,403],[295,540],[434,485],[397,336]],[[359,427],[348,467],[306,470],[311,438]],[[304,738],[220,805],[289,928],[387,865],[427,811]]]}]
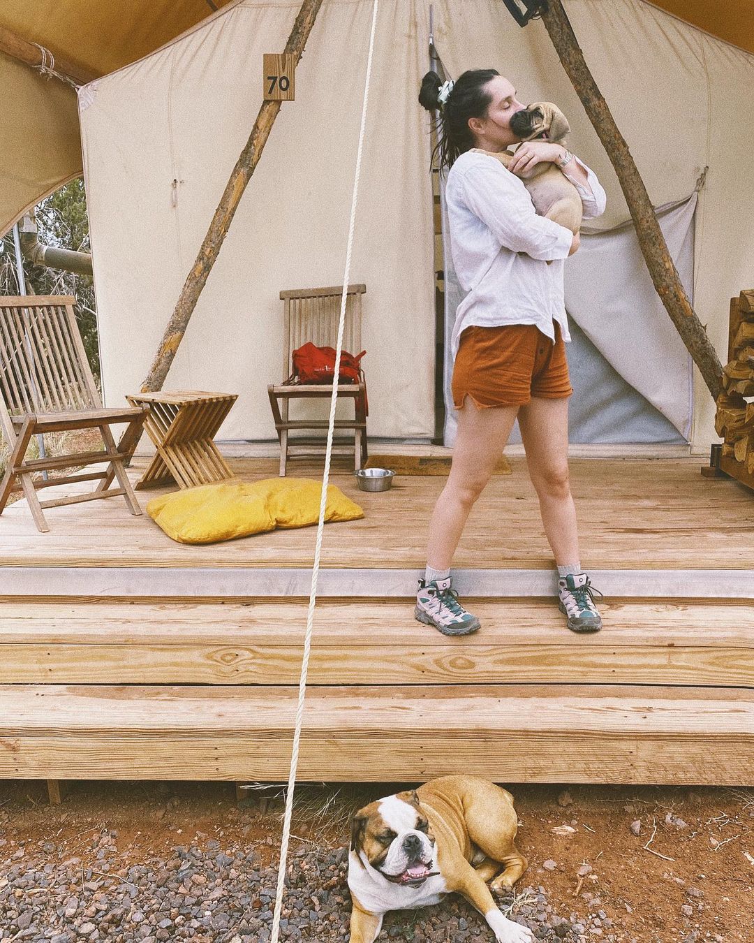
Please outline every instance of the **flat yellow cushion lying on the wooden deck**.
[{"label": "flat yellow cushion lying on the wooden deck", "polygon": [[[320,520],[322,484],[310,478],[267,478],[201,485],[153,498],[147,514],[173,540],[216,543],[276,527],[305,527]],[[327,488],[325,521],[355,521],[364,511],[345,494]]]}]

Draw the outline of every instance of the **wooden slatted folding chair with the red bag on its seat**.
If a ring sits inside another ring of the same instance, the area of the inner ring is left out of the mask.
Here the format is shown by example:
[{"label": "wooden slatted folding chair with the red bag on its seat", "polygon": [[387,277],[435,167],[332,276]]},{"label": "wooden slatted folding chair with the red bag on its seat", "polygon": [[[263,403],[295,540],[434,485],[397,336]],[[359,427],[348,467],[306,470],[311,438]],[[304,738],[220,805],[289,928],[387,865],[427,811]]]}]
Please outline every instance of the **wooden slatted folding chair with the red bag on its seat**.
[{"label": "wooden slatted folding chair with the red bag on its seat", "polygon": [[[346,315],[343,331],[343,350],[356,355],[361,352],[361,298],[366,285],[349,285],[346,293]],[[283,327],[283,376],[288,378],[292,369],[291,355],[297,347],[311,341],[318,347],[336,347],[337,325],[340,320],[340,304],[343,287],[281,291],[284,306]],[[292,399],[328,398],[332,394],[330,384],[283,383],[271,385],[270,407],[275,429],[280,439],[280,474],[286,474],[287,459],[295,455],[310,455],[312,445],[322,445],[326,438],[326,419],[288,418]],[[334,455],[353,455],[356,469],[367,461],[367,387],[361,383],[341,383],[337,387],[338,400],[353,400],[353,419],[336,420],[336,430],[352,430],[352,438],[334,440]],[[319,438],[288,438],[291,430],[319,430]]]}]

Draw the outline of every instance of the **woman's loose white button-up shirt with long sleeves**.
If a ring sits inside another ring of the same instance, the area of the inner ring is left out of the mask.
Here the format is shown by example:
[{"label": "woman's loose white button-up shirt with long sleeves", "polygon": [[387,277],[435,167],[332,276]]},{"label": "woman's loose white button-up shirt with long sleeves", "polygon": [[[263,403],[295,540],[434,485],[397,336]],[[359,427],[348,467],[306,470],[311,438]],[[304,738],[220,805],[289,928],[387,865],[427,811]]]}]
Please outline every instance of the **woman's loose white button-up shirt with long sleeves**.
[{"label": "woman's loose white button-up shirt with long sleeves", "polygon": [[[575,159],[591,188],[575,185],[583,216],[599,216],[605,209],[605,191],[597,175]],[[462,332],[471,324],[536,324],[554,340],[557,321],[563,339],[570,340],[563,290],[563,261],[573,240],[570,229],[537,216],[523,181],[487,154],[467,151],[458,157],[445,194],[453,265],[467,291],[455,314],[453,358]]]}]

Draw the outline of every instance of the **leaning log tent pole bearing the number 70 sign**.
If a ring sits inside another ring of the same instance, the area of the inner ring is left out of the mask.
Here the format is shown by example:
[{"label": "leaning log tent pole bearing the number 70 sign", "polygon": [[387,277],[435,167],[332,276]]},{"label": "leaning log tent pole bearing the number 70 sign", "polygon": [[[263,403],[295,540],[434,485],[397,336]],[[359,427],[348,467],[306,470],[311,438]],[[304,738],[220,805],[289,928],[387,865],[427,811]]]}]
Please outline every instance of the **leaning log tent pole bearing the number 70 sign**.
[{"label": "leaning log tent pole bearing the number 70 sign", "polygon": [[[284,52],[295,55],[298,63],[303,54],[303,48],[309,38],[317,13],[320,10],[322,0],[303,0],[296,22],[293,25],[290,36],[286,43]],[[260,73],[261,73],[261,62]],[[149,374],[141,384],[141,392],[156,392],[162,389],[165,377],[171,369],[172,358],[178,349],[178,345],[186,333],[188,320],[193,313],[199,295],[205,287],[205,282],[212,266],[215,264],[221,245],[227,235],[230,224],[243,196],[246,185],[249,183],[254,168],[259,163],[259,157],[270,137],[270,129],[280,111],[280,101],[266,101],[259,108],[256,116],[252,133],[246,146],[241,151],[240,157],[236,162],[233,173],[230,175],[225,191],[222,194],[220,205],[215,210],[212,223],[209,225],[202,248],[199,255],[188,273],[188,278],[181,290],[180,297],[172,312],[170,323],[165,330],[165,334],[157,349],[155,360],[150,368]]]}]

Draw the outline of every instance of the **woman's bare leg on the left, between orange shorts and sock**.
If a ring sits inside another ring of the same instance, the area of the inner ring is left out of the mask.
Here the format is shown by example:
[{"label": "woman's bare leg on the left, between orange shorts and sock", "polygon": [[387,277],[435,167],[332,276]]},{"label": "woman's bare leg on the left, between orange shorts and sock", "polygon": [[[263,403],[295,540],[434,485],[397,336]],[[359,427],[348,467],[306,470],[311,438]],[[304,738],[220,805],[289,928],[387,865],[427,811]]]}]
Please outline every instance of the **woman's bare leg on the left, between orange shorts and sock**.
[{"label": "woman's bare leg on the left, between orange shorts and sock", "polygon": [[433,570],[450,569],[469,511],[502,455],[518,408],[478,409],[467,397],[464,408],[458,410],[451,473],[430,520],[427,562]]}]

